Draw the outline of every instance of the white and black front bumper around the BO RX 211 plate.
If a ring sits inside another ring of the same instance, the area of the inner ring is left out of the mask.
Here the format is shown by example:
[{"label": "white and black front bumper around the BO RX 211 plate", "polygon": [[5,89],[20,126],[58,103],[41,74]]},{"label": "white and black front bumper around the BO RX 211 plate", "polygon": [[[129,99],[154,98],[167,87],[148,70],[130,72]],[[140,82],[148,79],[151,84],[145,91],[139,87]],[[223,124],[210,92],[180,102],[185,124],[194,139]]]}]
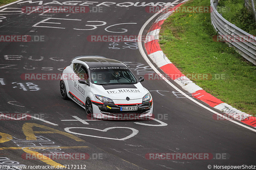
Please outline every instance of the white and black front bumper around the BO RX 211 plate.
[{"label": "white and black front bumper around the BO RX 211 plate", "polygon": [[[108,107],[107,107],[108,106]],[[138,110],[120,111],[122,106],[138,106]],[[133,105],[105,105],[92,101],[93,117],[107,120],[141,120],[153,115],[153,101]],[[110,109],[111,108],[111,109]],[[149,120],[149,119],[147,119]]]}]

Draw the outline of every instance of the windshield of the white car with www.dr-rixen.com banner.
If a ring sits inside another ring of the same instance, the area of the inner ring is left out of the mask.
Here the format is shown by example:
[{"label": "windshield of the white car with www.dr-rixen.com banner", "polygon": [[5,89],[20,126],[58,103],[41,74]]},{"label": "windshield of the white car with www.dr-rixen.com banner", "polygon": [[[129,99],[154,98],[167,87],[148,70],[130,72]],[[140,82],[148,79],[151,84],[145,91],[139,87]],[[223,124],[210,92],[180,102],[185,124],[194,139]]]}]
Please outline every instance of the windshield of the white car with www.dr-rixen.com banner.
[{"label": "windshield of the white car with www.dr-rixen.com banner", "polygon": [[91,81],[94,84],[136,84],[137,81],[127,67],[90,68]]}]

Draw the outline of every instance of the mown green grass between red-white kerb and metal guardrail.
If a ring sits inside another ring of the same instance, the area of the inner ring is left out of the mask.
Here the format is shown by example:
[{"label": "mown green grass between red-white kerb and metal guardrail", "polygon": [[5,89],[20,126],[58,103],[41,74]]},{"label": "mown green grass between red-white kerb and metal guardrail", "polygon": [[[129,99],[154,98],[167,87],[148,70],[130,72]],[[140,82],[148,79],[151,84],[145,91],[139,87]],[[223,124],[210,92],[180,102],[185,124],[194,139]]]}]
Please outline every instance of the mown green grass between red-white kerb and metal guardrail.
[{"label": "mown green grass between red-white kerb and metal guardrail", "polygon": [[[184,6],[210,6],[194,0]],[[184,74],[225,74],[224,80],[192,80],[225,103],[256,116],[256,67],[225,43],[215,42],[210,13],[173,13],[162,25],[159,42]]]}]

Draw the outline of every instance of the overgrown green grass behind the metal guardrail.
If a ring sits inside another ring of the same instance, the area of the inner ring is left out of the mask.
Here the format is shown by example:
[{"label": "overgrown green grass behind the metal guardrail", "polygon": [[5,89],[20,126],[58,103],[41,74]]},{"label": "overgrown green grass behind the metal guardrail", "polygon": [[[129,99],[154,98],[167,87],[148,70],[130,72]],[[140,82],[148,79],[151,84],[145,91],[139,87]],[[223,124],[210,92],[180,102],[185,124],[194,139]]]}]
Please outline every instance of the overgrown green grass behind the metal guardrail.
[{"label": "overgrown green grass behind the metal guardrail", "polygon": [[219,0],[218,12],[238,28],[249,34],[256,35],[256,22],[253,13],[248,12],[244,0]]}]

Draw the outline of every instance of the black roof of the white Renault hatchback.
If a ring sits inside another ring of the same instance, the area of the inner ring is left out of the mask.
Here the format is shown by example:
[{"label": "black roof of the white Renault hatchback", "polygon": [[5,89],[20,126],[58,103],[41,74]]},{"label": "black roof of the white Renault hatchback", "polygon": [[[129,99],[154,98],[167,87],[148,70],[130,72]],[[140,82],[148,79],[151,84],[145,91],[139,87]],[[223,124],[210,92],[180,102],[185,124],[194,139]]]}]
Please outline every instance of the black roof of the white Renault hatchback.
[{"label": "black roof of the white Renault hatchback", "polygon": [[93,67],[126,67],[122,62],[102,56],[78,56],[74,60],[85,62],[89,68]]}]

